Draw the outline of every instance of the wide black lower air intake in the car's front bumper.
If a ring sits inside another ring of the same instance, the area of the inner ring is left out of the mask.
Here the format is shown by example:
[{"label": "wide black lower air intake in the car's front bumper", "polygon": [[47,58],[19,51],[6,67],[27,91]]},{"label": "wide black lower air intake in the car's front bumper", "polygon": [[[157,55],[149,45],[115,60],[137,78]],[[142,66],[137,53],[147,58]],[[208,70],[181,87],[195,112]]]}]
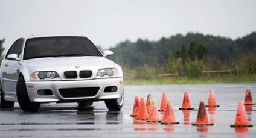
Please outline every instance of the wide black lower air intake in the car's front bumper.
[{"label": "wide black lower air intake in the car's front bumper", "polygon": [[82,87],[59,89],[60,95],[64,98],[90,97],[98,93],[100,87]]}]

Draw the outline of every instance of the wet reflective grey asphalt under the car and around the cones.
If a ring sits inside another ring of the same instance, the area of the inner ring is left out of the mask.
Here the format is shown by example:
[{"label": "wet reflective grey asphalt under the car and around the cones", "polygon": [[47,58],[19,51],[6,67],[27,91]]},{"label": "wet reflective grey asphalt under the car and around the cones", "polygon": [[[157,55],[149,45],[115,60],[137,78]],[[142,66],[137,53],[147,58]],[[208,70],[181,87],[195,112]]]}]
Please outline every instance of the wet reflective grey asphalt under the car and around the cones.
[{"label": "wet reflective grey asphalt under the car and around the cones", "polygon": [[[246,87],[251,88],[256,101],[256,84],[196,84],[125,86],[124,106],[121,111],[109,111],[103,101],[91,107],[78,107],[76,103],[42,104],[37,113],[24,113],[16,103],[14,108],[0,109],[0,137],[256,137],[256,105],[247,107],[252,128],[236,130],[234,124],[238,101],[245,98]],[[214,89],[217,104],[208,111],[214,126],[194,127],[200,101],[207,102],[210,89]],[[195,110],[182,113],[183,93],[188,90]],[[130,117],[136,95],[151,93],[159,107],[162,92],[173,102],[178,125],[137,124]],[[243,131],[243,133],[241,133]]]}]

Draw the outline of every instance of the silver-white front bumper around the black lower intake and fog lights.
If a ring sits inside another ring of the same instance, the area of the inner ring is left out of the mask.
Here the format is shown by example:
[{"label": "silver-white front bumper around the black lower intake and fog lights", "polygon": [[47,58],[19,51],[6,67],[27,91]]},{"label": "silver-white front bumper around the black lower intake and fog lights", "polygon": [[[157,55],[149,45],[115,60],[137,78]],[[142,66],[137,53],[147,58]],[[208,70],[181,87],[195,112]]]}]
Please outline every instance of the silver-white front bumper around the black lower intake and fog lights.
[{"label": "silver-white front bumper around the black lower intake and fog lights", "polygon": [[[26,81],[30,102],[79,102],[101,101],[105,99],[117,99],[123,93],[123,78],[100,78],[94,80],[72,81]],[[104,92],[105,87],[116,86],[116,92]],[[64,98],[59,89],[71,89],[82,87],[100,87],[94,96]],[[38,90],[50,89],[53,95],[39,95]]]}]

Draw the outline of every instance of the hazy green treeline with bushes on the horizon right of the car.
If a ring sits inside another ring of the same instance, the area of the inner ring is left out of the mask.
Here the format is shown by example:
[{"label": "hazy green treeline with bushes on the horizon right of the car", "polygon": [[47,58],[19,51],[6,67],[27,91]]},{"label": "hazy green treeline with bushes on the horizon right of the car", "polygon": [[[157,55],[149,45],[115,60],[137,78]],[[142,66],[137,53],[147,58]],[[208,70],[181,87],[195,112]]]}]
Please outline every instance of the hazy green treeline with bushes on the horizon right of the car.
[{"label": "hazy green treeline with bushes on the horizon right of the car", "polygon": [[[220,69],[256,73],[256,32],[236,40],[200,33],[176,34],[158,41],[125,40],[110,50],[114,55],[109,58],[125,71],[134,71],[136,78],[168,72],[193,76],[195,72],[200,75],[205,70]],[[250,71],[242,71],[244,67]]]}]

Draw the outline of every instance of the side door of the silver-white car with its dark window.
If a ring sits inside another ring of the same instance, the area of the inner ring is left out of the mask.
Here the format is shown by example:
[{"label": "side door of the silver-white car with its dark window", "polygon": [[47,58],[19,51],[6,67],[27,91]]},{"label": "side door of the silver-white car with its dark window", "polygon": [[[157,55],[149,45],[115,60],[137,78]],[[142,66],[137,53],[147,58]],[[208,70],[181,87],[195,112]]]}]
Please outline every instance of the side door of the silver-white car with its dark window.
[{"label": "side door of the silver-white car with its dark window", "polygon": [[16,98],[16,83],[19,77],[19,71],[21,70],[20,60],[10,60],[7,58],[10,54],[18,54],[21,59],[21,51],[24,43],[24,39],[18,39],[13,43],[4,60],[2,61],[2,87],[4,90],[4,98],[7,101],[17,101]]}]

